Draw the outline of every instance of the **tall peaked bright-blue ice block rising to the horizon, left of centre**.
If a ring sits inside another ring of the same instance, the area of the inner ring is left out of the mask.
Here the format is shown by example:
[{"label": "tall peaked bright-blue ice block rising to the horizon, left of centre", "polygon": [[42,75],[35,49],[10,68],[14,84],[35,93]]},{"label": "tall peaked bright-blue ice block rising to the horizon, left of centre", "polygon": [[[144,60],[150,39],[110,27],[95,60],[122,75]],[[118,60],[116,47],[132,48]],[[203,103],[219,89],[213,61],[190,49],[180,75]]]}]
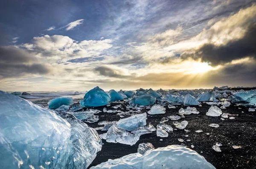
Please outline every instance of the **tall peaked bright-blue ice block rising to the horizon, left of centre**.
[{"label": "tall peaked bright-blue ice block rising to the horizon, left of centre", "polygon": [[84,107],[105,106],[110,101],[110,96],[101,88],[94,87],[84,95],[83,101],[80,103]]}]

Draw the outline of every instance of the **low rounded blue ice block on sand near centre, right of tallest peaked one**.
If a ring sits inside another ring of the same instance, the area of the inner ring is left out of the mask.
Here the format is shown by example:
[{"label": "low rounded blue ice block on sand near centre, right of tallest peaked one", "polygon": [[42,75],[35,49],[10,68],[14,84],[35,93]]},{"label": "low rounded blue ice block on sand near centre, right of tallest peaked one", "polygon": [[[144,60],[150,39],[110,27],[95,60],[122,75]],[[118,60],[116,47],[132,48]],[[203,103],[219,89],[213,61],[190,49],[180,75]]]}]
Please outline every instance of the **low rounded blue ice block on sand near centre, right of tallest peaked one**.
[{"label": "low rounded blue ice block on sand near centre, right of tallest peaked one", "polygon": [[152,96],[135,96],[131,99],[130,105],[134,106],[135,104],[147,106],[152,105],[156,102],[156,98]]}]

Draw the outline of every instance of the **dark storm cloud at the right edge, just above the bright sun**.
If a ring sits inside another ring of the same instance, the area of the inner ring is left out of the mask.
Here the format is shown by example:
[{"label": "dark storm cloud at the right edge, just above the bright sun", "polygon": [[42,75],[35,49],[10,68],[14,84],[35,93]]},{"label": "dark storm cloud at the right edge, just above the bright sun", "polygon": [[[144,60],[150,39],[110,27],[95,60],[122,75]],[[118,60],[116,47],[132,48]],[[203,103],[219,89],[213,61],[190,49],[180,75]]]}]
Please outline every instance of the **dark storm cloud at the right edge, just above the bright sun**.
[{"label": "dark storm cloud at the right edge, just above the bright sun", "polygon": [[221,65],[235,59],[247,56],[256,58],[256,23],[252,23],[244,37],[228,42],[225,45],[204,44],[195,53],[184,53],[182,59],[201,59],[202,62],[209,62],[210,65]]}]

